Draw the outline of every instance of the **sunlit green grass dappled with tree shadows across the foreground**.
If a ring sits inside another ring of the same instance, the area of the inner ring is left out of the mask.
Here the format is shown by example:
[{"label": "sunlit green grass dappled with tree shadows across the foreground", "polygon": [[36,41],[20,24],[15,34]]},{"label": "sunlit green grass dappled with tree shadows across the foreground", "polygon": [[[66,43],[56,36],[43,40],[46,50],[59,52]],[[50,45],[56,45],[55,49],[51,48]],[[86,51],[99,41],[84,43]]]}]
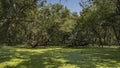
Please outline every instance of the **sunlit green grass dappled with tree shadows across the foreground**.
[{"label": "sunlit green grass dappled with tree shadows across the foreground", "polygon": [[120,68],[120,48],[0,47],[0,68]]}]

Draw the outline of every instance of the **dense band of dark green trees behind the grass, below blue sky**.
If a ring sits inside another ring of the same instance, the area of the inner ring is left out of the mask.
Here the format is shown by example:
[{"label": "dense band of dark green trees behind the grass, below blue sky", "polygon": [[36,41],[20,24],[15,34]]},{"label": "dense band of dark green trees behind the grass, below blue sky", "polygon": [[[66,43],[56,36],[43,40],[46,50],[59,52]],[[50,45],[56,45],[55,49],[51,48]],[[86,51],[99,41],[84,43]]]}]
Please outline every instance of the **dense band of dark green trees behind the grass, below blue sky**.
[{"label": "dense band of dark green trees behind the grass, below blue sky", "polygon": [[120,45],[120,0],[81,0],[80,15],[46,1],[0,0],[0,43]]}]

